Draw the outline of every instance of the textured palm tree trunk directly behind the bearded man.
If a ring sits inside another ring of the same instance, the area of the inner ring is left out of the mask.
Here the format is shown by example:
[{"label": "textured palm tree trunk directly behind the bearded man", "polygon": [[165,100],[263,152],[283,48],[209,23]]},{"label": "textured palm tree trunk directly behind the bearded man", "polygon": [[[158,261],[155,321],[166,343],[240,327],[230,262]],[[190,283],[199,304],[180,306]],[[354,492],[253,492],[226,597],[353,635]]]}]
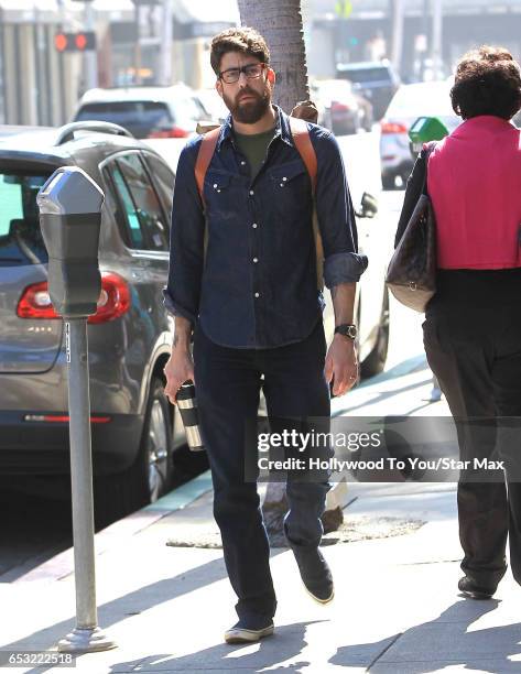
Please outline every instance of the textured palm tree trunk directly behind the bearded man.
[{"label": "textured palm tree trunk directly behind the bearded man", "polygon": [[[238,0],[242,25],[256,29],[270,48],[270,65],[276,83],[273,102],[287,115],[299,100],[310,98],[306,50],[300,0]],[[282,534],[287,510],[285,485],[270,482],[263,502],[264,522],[272,540]],[[341,508],[335,506],[323,515],[325,531],[335,531],[343,522]]]}]

